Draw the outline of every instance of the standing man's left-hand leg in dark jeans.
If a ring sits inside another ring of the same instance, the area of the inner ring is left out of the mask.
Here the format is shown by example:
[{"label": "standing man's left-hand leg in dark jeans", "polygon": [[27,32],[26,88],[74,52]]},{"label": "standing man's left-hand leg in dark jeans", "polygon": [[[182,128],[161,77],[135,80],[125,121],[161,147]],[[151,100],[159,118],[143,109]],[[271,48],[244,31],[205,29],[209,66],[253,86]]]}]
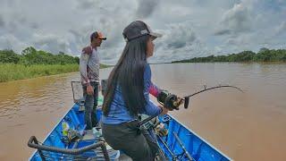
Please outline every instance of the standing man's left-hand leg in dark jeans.
[{"label": "standing man's left-hand leg in dark jeans", "polygon": [[84,110],[84,122],[87,124],[86,130],[92,129],[91,113],[94,105],[94,96],[88,95],[87,86],[83,86],[83,97],[85,97],[85,110]]}]

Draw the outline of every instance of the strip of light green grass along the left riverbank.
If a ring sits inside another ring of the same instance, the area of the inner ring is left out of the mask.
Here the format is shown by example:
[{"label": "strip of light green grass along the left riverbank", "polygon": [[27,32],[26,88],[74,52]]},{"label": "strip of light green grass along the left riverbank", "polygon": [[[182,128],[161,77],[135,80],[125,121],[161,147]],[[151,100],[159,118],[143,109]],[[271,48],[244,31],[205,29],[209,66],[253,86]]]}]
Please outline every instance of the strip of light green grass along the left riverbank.
[{"label": "strip of light green grass along the left riverbank", "polygon": [[[100,68],[106,67],[109,65],[100,65]],[[0,82],[78,71],[79,64],[0,64]]]}]

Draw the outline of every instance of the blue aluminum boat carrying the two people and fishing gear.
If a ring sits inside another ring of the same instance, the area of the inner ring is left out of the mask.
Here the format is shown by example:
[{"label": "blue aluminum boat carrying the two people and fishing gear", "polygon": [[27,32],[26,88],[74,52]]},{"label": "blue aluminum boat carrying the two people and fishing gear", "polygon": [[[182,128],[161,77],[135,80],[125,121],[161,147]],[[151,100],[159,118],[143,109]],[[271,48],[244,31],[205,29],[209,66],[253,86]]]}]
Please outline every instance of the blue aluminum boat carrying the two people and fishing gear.
[{"label": "blue aluminum boat carrying the two people and fishing gear", "polygon": [[[39,142],[35,136],[30,137],[28,146],[36,150],[29,160],[130,160],[120,150],[114,150],[105,143],[100,127],[84,131],[83,102],[82,99],[74,100],[74,106],[63,115],[43,142]],[[99,97],[97,118],[102,114],[102,103],[103,98]],[[157,120],[167,131],[164,136],[156,135],[161,148],[158,160],[231,160],[172,115],[159,116]],[[148,123],[144,126],[147,127]]]}]

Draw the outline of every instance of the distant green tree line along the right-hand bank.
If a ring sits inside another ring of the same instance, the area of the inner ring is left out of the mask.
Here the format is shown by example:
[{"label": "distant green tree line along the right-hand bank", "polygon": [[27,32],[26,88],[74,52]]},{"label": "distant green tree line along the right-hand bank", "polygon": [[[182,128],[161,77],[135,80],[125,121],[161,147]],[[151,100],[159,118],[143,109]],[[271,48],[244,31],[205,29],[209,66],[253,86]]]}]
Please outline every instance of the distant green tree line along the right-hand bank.
[{"label": "distant green tree line along the right-hand bank", "polygon": [[259,52],[243,51],[231,55],[209,55],[172,63],[211,63],[211,62],[286,62],[286,49],[261,48]]}]

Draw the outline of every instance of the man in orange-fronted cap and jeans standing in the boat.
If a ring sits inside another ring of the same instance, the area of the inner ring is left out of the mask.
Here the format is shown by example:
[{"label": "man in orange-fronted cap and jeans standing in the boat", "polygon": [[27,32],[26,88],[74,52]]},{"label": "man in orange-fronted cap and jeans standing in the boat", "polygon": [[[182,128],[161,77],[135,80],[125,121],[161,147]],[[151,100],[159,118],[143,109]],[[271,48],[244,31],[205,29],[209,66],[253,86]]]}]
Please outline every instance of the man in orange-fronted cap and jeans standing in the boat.
[{"label": "man in orange-fronted cap and jeans standing in the boat", "polygon": [[84,119],[87,124],[86,130],[91,130],[97,126],[97,98],[99,86],[99,56],[98,47],[104,35],[95,31],[90,35],[90,46],[84,47],[80,55],[80,80],[85,97],[85,114]]}]

